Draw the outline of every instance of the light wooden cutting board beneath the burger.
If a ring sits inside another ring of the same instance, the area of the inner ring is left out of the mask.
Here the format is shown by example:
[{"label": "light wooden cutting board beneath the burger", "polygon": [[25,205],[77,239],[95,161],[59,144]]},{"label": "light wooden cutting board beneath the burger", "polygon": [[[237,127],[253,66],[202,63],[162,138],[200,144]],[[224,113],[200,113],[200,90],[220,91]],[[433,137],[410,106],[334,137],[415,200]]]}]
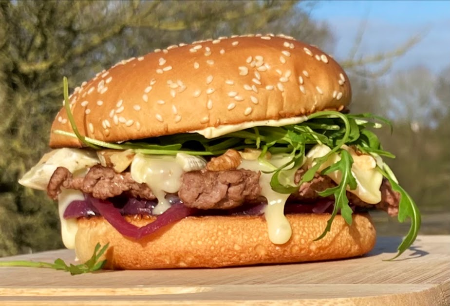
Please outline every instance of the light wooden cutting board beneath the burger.
[{"label": "light wooden cutting board beneath the burger", "polygon": [[[220,269],[99,271],[0,268],[0,305],[450,305],[450,235],[380,237],[360,258]],[[0,260],[72,261],[70,250]]]}]

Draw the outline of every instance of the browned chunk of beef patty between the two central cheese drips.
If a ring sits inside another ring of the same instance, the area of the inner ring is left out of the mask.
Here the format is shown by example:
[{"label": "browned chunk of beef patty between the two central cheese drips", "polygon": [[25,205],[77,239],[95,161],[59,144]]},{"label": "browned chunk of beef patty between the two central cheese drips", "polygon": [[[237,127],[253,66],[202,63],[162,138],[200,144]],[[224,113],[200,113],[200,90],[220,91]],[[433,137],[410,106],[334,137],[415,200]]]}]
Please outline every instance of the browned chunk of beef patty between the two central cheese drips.
[{"label": "browned chunk of beef patty between the two central cheese drips", "polygon": [[187,207],[232,209],[258,198],[260,175],[250,170],[187,172],[182,176],[178,196]]}]

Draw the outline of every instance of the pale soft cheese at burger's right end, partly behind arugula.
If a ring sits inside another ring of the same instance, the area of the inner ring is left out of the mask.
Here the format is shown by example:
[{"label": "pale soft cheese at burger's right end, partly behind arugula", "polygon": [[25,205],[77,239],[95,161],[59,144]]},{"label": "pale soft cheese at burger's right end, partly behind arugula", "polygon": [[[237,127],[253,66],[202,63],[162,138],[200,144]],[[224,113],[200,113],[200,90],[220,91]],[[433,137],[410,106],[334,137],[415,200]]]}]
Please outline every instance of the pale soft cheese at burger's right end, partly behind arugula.
[{"label": "pale soft cheese at burger's right end, partly behind arugula", "polygon": [[[369,204],[376,204],[381,201],[381,182],[383,180],[383,175],[376,170],[376,161],[370,155],[357,155],[356,152],[348,147],[342,146],[342,149],[346,150],[353,158],[352,165],[352,174],[356,179],[356,189],[350,190],[347,186],[347,191],[352,192],[358,198],[363,200]],[[314,158],[322,157],[329,153],[331,149],[326,145],[316,145],[314,146],[307,154],[307,160],[305,165],[307,168],[310,168],[314,165]],[[319,171],[321,172],[323,169],[328,166],[333,165],[334,163],[340,160],[340,156],[338,154],[332,154],[330,158],[325,161],[320,167]],[[332,172],[327,174],[333,181],[337,184],[340,183],[342,176],[340,172]]]}]

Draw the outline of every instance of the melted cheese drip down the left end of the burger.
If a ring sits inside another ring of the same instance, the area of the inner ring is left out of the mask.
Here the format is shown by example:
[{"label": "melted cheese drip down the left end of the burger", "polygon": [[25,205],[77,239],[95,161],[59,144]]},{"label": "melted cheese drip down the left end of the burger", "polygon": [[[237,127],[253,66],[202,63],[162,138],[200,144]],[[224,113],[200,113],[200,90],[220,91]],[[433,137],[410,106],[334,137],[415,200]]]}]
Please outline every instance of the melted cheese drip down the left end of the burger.
[{"label": "melted cheese drip down the left end of the burger", "polygon": [[78,231],[78,221],[64,219],[64,211],[72,201],[84,200],[83,192],[77,190],[62,189],[58,195],[58,212],[61,221],[61,237],[67,249],[75,249],[75,235]]}]

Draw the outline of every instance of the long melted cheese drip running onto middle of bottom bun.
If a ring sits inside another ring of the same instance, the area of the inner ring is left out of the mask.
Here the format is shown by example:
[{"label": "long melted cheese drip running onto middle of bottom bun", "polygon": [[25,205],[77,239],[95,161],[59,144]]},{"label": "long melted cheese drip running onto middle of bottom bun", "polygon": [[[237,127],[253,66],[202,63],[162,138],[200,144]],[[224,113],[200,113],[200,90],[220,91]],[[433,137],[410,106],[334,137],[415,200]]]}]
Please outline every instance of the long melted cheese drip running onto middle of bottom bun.
[{"label": "long melted cheese drip running onto middle of bottom bun", "polygon": [[[272,157],[270,162],[274,165],[283,165],[290,161],[292,157]],[[273,169],[265,163],[256,160],[243,160],[238,169],[246,169],[255,172],[272,171]],[[264,217],[267,222],[269,239],[274,244],[284,244],[289,241],[292,235],[291,225],[284,215],[284,204],[289,194],[282,194],[272,190],[270,179],[273,173],[262,173],[260,177],[261,195],[267,199],[267,207],[264,210]]]}]

